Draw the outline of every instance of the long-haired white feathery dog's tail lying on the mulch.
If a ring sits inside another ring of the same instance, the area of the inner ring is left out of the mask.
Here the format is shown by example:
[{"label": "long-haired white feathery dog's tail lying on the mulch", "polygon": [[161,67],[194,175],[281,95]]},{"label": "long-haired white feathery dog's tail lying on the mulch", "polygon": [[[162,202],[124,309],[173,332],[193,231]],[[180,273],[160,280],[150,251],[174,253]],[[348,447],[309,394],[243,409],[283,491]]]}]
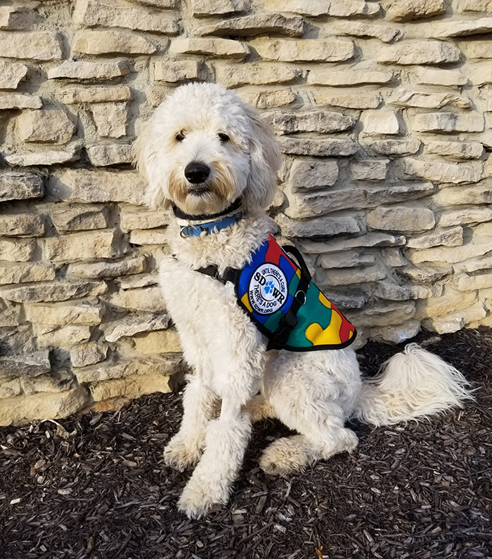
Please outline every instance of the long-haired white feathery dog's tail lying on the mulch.
[{"label": "long-haired white feathery dog's tail lying on the mulch", "polygon": [[375,426],[427,418],[473,399],[468,386],[458,369],[409,343],[365,379],[354,416]]}]

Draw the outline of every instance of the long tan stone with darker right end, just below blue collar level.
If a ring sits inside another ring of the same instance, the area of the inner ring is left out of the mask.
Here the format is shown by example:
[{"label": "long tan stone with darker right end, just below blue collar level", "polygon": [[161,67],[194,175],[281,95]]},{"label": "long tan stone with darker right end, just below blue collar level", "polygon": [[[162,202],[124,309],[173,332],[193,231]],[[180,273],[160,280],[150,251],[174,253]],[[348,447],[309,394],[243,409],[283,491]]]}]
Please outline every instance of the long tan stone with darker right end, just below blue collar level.
[{"label": "long tan stone with darker right end, just below blue collar level", "polygon": [[44,239],[44,258],[51,262],[74,262],[122,256],[127,246],[117,231],[85,231]]}]

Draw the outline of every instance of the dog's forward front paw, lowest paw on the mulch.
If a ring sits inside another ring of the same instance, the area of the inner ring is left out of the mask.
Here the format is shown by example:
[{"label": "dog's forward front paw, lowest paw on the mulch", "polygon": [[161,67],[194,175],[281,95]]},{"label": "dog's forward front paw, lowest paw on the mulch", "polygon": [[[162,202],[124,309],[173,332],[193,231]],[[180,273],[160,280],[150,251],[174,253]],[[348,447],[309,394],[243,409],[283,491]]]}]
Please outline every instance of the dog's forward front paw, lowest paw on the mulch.
[{"label": "dog's forward front paw, lowest paw on the mulch", "polygon": [[226,504],[229,493],[229,488],[222,483],[192,475],[183,489],[178,508],[188,518],[202,518],[213,505]]}]

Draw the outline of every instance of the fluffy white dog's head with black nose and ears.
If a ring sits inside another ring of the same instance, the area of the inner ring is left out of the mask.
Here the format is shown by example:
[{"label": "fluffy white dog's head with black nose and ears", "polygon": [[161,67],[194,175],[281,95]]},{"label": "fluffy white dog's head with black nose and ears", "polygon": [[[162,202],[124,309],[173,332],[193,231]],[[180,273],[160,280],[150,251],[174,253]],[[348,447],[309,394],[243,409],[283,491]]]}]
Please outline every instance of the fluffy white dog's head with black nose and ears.
[{"label": "fluffy white dog's head with black nose and ears", "polygon": [[282,156],[253,107],[219,84],[188,84],[143,126],[136,161],[149,206],[198,215],[219,213],[238,197],[248,209],[268,206]]}]

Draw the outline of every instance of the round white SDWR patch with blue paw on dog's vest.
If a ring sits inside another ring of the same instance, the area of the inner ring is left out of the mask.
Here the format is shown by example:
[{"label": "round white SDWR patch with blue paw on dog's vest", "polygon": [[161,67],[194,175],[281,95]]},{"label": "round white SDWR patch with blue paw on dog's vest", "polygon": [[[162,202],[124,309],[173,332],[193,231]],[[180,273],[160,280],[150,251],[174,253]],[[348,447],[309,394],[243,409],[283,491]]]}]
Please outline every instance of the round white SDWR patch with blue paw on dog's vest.
[{"label": "round white SDWR patch with blue paw on dog's vest", "polygon": [[254,271],[248,286],[250,305],[260,315],[271,315],[283,306],[287,291],[284,272],[275,264],[261,264]]}]

